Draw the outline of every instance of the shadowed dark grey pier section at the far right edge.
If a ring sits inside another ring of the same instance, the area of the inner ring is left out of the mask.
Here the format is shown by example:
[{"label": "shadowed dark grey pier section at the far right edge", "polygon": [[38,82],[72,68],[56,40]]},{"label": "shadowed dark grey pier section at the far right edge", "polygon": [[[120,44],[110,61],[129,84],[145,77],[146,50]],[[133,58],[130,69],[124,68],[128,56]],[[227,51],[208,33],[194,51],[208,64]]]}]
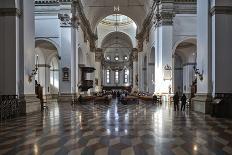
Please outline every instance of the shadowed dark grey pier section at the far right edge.
[{"label": "shadowed dark grey pier section at the far right edge", "polygon": [[232,1],[212,1],[211,16],[213,96],[232,98]]}]

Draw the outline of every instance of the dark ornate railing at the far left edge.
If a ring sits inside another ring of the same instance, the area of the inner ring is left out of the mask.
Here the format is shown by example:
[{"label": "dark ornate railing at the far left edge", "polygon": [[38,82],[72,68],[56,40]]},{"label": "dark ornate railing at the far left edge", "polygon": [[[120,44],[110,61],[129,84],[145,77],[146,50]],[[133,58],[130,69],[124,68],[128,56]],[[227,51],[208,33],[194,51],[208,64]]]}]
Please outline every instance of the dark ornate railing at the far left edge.
[{"label": "dark ornate railing at the far left edge", "polygon": [[17,95],[0,95],[0,120],[19,116],[23,111]]}]

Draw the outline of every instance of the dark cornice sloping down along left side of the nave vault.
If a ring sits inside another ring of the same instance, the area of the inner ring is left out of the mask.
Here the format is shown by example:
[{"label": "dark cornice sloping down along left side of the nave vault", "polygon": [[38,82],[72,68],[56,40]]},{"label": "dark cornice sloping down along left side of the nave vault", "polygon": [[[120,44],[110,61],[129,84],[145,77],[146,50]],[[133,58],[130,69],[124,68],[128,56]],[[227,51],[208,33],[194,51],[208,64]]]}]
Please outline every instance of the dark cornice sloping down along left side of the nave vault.
[{"label": "dark cornice sloping down along left side of the nave vault", "polygon": [[85,40],[89,41],[90,51],[94,52],[94,49],[96,48],[95,41],[97,40],[97,36],[92,32],[89,20],[85,16],[81,2],[79,0],[73,1],[73,5],[77,8],[81,29],[84,32],[84,38]]}]

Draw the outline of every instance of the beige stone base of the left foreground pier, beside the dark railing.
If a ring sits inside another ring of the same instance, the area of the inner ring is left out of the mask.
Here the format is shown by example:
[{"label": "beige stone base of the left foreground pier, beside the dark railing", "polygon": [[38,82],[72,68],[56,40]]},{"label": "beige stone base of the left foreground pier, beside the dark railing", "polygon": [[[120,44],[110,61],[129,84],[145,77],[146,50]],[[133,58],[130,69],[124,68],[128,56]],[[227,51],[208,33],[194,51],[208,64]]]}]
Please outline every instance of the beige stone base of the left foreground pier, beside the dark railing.
[{"label": "beige stone base of the left foreground pier, beside the dark railing", "polygon": [[41,103],[40,100],[34,94],[26,94],[20,97],[20,101],[23,105],[23,114],[30,114],[34,112],[41,111]]}]

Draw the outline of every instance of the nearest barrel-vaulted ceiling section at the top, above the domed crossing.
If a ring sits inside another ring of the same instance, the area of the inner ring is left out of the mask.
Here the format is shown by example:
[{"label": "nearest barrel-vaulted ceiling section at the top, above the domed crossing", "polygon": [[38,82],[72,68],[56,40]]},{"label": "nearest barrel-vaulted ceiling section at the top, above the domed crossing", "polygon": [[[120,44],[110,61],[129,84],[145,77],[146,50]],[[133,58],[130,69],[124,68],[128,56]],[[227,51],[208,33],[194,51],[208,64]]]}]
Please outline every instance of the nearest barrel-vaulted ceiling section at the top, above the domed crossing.
[{"label": "nearest barrel-vaulted ceiling section at the top, above the domed crossing", "polygon": [[[149,13],[154,0],[81,0],[83,9],[93,31],[98,23],[111,14],[123,14],[130,17],[138,26],[142,24]],[[114,11],[119,6],[119,11]]]}]

